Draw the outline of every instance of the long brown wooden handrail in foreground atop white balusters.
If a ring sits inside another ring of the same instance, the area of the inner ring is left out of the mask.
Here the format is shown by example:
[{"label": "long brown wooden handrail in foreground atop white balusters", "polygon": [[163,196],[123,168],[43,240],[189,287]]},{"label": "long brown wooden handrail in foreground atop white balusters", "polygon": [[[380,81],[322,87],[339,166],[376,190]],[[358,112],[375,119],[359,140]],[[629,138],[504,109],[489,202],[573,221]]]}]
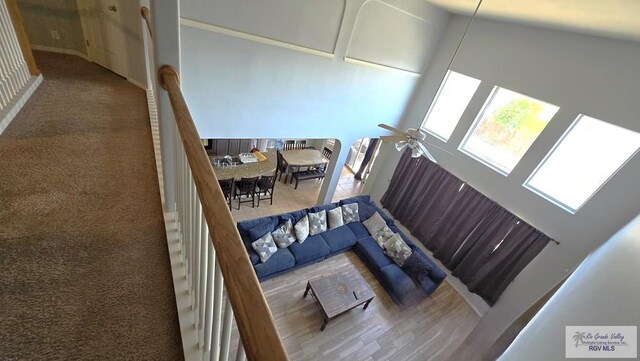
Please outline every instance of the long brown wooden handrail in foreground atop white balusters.
[{"label": "long brown wooden handrail in foreground atop white balusters", "polygon": [[178,72],[171,66],[162,66],[158,69],[158,83],[169,94],[247,358],[288,360],[267,300],[182,96]]}]

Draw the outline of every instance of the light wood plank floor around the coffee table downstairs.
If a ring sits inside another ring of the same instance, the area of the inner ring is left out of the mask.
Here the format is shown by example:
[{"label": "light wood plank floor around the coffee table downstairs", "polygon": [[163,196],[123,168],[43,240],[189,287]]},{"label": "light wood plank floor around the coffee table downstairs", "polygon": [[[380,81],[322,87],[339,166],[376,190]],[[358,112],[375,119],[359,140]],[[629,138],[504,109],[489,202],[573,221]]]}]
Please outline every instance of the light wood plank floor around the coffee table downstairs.
[{"label": "light wood plank floor around the coffee table downstairs", "polygon": [[[302,298],[306,282],[351,264],[376,297],[367,310],[351,310],[320,331],[313,299]],[[267,280],[262,288],[291,360],[446,360],[479,319],[447,282],[417,305],[396,305],[353,251]]]}]

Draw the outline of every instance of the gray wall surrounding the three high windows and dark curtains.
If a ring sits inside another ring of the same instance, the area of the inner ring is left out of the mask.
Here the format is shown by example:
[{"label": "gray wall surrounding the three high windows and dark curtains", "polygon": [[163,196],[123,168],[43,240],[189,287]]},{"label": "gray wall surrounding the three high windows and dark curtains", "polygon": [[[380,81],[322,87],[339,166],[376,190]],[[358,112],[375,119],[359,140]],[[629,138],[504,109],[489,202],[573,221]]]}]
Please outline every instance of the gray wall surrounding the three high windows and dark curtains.
[{"label": "gray wall surrounding the three high windows and dark curtains", "polygon": [[[456,16],[417,88],[403,126],[418,127],[447,69],[450,55],[467,25]],[[640,157],[634,157],[576,214],[570,214],[522,187],[579,113],[640,131],[640,44],[563,31],[477,19],[453,64],[453,70],[481,79],[448,143],[429,136],[453,155],[434,151],[440,164],[533,226],[559,240],[549,244],[525,268],[482,318],[478,327],[488,342],[556,285],[565,272],[640,212]],[[505,177],[457,151],[475,115],[494,85],[560,106],[529,152]],[[365,189],[382,196],[398,154],[383,149]],[[480,305],[482,307],[482,305]]]}]

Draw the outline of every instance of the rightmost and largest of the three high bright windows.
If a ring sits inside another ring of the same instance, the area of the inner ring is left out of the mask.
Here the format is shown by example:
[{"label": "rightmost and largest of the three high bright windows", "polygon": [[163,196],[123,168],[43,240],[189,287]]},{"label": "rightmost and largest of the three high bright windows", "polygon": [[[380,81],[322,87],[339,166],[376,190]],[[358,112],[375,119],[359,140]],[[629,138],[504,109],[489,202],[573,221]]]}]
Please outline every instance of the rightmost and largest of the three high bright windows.
[{"label": "rightmost and largest of the three high bright windows", "polygon": [[575,213],[640,148],[640,133],[580,115],[524,186]]}]

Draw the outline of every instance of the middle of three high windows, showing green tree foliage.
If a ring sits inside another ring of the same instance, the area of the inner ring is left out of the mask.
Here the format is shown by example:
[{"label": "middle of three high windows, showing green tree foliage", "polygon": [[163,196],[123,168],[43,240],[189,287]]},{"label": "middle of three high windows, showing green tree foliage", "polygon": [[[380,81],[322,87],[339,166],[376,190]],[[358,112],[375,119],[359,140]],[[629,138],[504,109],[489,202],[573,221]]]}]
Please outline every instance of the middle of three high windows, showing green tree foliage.
[{"label": "middle of three high windows, showing green tree foliage", "polygon": [[558,109],[495,87],[460,144],[460,150],[508,175]]}]

